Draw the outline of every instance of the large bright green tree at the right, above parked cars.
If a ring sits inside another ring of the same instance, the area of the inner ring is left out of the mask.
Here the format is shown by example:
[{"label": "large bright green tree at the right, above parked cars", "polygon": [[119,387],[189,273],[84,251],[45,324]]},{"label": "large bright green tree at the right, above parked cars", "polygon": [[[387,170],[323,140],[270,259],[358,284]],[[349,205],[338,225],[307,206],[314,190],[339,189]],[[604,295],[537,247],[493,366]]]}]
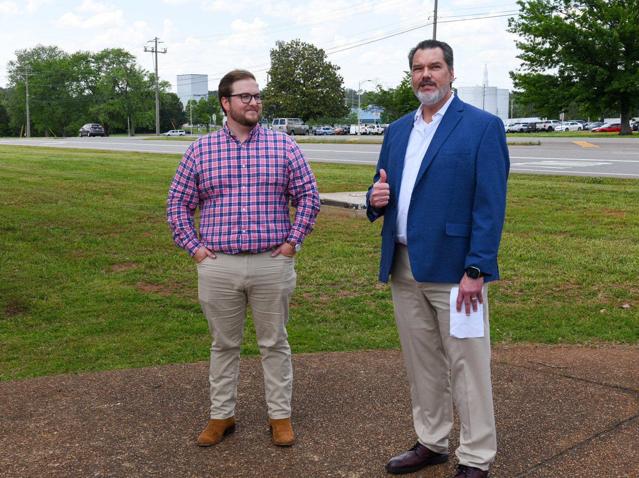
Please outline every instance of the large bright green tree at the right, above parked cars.
[{"label": "large bright green tree at the right, above parked cars", "polygon": [[[525,104],[551,116],[580,105],[584,116],[620,111],[632,134],[639,106],[639,0],[520,0],[509,31],[520,36],[521,69],[511,72]],[[556,70],[553,71],[553,70]]]}]

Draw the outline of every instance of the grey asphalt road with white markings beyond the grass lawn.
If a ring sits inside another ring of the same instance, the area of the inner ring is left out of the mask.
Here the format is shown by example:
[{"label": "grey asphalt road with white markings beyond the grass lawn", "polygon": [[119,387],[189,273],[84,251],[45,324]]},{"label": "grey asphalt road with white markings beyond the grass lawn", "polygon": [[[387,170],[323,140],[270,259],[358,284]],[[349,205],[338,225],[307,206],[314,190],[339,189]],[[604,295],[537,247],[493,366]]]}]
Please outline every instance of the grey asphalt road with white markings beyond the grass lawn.
[{"label": "grey asphalt road with white markings beyond the grass lawn", "polygon": [[[532,137],[509,137],[508,141],[527,142],[531,139],[537,140]],[[588,141],[581,138],[550,137],[541,138],[541,146],[509,146],[511,174],[577,174],[639,178],[639,138],[587,139]],[[0,139],[0,145],[2,144],[182,155],[190,142],[147,141],[144,137],[95,137]],[[381,143],[300,144],[300,148],[309,161],[377,164]]]}]

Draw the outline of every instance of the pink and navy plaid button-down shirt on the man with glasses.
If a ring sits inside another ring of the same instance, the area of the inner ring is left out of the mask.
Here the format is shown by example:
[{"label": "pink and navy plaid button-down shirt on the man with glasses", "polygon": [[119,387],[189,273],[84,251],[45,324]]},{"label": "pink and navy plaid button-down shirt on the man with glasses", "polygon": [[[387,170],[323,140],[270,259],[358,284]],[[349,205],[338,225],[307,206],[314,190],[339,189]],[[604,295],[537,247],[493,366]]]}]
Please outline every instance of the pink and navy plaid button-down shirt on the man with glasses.
[{"label": "pink and navy plaid button-down shirt on the man with glasses", "polygon": [[[289,200],[297,208],[292,226]],[[180,161],[166,218],[175,243],[192,256],[203,245],[235,254],[301,243],[318,212],[315,178],[293,139],[256,126],[240,143],[224,125],[195,141]]]}]

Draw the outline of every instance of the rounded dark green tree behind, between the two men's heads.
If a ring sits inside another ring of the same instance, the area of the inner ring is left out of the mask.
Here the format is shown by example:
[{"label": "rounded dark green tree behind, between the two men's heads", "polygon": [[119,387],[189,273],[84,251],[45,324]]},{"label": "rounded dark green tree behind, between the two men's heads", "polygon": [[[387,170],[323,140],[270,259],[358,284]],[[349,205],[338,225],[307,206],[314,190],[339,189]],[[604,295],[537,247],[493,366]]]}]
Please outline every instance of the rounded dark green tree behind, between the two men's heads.
[{"label": "rounded dark green tree behind, between the two men's heads", "polygon": [[270,81],[262,91],[266,96],[263,104],[266,118],[308,121],[323,116],[343,118],[348,114],[344,79],[337,74],[339,66],[326,61],[324,50],[293,40],[277,42],[277,49],[270,54]]}]

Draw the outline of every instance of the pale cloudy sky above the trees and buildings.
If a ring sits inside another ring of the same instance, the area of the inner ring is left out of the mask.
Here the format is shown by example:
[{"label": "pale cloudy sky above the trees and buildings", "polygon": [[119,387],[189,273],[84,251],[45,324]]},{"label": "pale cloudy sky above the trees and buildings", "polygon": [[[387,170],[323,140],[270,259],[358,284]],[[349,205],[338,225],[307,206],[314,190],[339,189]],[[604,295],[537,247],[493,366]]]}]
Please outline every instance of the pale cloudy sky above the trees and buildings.
[{"label": "pale cloudy sky above the trees and buildings", "polygon": [[[506,31],[514,1],[439,0],[438,8],[437,39],[454,49],[456,86],[480,84],[486,64],[491,86],[511,88],[508,72],[520,64]],[[364,80],[396,86],[408,50],[432,37],[432,17],[430,0],[0,0],[0,86],[13,52],[38,43],[68,52],[121,47],[151,70],[144,45],[155,36],[167,48],[160,78],[174,91],[176,75],[207,74],[217,89],[233,68],[265,84],[269,49],[295,38],[325,49],[346,88]]]}]

